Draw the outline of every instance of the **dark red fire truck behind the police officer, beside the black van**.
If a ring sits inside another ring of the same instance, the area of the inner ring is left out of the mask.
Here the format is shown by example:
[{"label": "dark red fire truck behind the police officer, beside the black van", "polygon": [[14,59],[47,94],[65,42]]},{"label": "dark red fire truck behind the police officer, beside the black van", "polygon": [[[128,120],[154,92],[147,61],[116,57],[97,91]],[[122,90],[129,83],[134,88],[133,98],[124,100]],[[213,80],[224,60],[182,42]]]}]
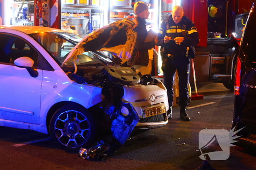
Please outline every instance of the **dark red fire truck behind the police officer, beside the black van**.
[{"label": "dark red fire truck behind the police officer, beside the black van", "polygon": [[222,82],[234,88],[242,29],[252,4],[253,0],[182,0],[185,15],[199,33],[194,58],[197,82]]}]

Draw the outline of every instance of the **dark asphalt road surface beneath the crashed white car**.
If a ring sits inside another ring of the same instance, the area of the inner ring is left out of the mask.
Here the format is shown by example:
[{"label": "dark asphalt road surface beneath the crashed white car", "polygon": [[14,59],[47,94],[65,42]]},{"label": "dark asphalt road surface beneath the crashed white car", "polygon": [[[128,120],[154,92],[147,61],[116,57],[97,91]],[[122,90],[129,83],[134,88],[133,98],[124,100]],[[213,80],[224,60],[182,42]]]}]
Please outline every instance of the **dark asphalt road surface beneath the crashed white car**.
[{"label": "dark asphalt road surface beneath the crashed white car", "polygon": [[[0,170],[196,170],[203,162],[198,151],[199,132],[204,129],[229,131],[233,119],[233,92],[225,88],[222,91],[216,89],[202,93],[203,100],[194,100],[189,104],[192,107],[214,102],[188,109],[190,122],[180,121],[179,107],[174,106],[173,119],[170,119],[167,126],[131,138],[105,161],[84,160],[78,153],[67,153],[59,149],[50,139],[20,146],[20,143],[49,136],[31,130],[0,126]],[[230,147],[228,159],[209,162],[218,170],[253,170],[256,156]]]}]

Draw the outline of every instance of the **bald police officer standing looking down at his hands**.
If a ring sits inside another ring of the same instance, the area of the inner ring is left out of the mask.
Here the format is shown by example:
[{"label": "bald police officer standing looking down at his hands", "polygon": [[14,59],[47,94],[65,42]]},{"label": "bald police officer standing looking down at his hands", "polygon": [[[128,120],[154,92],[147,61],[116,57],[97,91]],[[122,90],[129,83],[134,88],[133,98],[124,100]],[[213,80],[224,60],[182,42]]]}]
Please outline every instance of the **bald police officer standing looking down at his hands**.
[{"label": "bald police officer standing looking down at his hands", "polygon": [[[172,118],[173,81],[176,70],[179,76],[179,105],[180,119],[190,121],[186,112],[188,106],[188,83],[190,57],[195,56],[193,46],[199,43],[195,25],[184,16],[181,6],[174,6],[172,15],[163,20],[158,31],[158,46],[163,48],[165,54],[165,67],[163,68],[164,84],[167,88],[169,111]],[[191,55],[192,54],[192,55]]]}]

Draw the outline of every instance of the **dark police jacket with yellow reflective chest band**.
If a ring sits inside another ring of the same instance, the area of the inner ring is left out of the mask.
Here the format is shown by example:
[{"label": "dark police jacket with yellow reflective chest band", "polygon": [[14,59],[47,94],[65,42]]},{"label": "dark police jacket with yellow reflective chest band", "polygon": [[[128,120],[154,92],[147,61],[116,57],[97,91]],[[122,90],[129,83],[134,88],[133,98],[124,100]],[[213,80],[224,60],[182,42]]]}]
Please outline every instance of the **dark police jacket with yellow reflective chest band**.
[{"label": "dark police jacket with yellow reflective chest band", "polygon": [[[180,45],[176,44],[173,40],[170,40],[168,43],[164,43],[163,38],[165,36],[172,37],[172,39],[176,37],[184,37],[184,40]],[[174,23],[172,15],[170,15],[167,20],[162,22],[161,28],[158,31],[157,45],[164,47],[165,54],[171,54],[174,56],[175,54],[185,54],[188,50],[187,47],[191,48],[191,46],[196,46],[198,43],[199,37],[196,27],[185,15],[177,25]]]}]

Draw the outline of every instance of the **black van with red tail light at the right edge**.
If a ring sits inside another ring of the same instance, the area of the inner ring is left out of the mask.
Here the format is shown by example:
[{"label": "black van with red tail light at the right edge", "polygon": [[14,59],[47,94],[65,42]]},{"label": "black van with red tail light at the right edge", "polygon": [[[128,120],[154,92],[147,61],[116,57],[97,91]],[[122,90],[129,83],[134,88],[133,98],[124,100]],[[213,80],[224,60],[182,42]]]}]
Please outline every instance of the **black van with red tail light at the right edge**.
[{"label": "black van with red tail light at the right edge", "polygon": [[[236,66],[234,87],[234,118],[232,128],[239,130],[234,145],[256,146],[256,5],[249,13]],[[246,144],[246,145],[244,145]]]}]

